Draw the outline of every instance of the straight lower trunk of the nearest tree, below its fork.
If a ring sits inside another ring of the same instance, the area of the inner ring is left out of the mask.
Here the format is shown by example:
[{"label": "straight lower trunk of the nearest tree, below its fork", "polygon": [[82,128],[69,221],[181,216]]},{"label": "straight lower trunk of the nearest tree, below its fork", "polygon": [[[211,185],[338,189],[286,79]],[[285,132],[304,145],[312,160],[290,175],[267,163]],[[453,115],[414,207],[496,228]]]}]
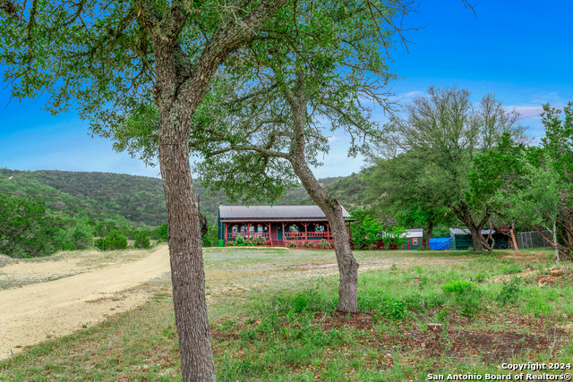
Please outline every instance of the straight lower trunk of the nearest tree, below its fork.
[{"label": "straight lower trunk of the nearest tree, below its fork", "polygon": [[167,201],[171,281],[183,380],[214,381],[201,218],[192,187],[188,134],[177,132],[165,115],[161,115],[159,123],[159,165]]}]

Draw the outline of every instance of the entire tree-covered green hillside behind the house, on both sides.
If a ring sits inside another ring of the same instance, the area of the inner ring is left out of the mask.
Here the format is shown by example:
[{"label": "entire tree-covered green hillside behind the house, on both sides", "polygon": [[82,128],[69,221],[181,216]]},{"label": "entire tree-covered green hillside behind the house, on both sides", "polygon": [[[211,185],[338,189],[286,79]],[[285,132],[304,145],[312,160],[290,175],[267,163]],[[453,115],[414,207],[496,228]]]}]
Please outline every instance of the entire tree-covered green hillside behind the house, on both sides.
[{"label": "entire tree-covered green hillside behind the house, on both sides", "polygon": [[[12,179],[11,179],[12,177]],[[363,173],[320,180],[348,210],[363,205]],[[92,220],[112,219],[124,224],[162,225],[167,221],[163,186],[158,178],[128,174],[0,169],[0,194],[30,195],[46,201],[48,215]],[[206,198],[195,183],[201,213],[215,223],[222,196]],[[303,187],[288,191],[278,205],[312,204]]]}]

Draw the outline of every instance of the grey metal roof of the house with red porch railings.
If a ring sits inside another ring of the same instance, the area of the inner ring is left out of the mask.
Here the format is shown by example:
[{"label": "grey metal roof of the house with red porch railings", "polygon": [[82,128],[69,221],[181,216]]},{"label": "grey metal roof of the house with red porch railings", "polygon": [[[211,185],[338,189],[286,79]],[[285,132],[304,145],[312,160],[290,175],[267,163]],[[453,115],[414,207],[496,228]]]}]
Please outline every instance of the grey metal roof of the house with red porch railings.
[{"label": "grey metal roof of the house with red porch railings", "polygon": [[[326,219],[318,206],[219,206],[221,219]],[[342,216],[350,217],[342,208]]]}]

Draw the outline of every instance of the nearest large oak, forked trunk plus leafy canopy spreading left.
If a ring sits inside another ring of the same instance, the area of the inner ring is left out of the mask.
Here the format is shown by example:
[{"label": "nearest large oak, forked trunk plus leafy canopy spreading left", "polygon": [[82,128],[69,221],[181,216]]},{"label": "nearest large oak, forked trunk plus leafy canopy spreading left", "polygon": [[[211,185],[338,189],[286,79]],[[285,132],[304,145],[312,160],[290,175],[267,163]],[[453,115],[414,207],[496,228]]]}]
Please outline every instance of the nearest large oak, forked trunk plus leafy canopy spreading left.
[{"label": "nearest large oak, forked trunk plus leafy canopy spreading left", "polygon": [[0,64],[13,97],[47,92],[54,113],[76,107],[103,135],[152,104],[169,223],[184,381],[214,380],[200,216],[189,163],[191,120],[228,55],[286,0],[5,1]]}]

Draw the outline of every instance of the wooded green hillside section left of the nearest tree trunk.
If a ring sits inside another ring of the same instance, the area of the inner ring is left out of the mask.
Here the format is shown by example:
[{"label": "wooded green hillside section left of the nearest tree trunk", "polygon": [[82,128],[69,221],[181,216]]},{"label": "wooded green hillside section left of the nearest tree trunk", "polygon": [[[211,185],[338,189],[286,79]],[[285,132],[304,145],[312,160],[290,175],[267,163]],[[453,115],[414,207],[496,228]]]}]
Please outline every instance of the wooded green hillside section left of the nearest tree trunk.
[{"label": "wooded green hillside section left of the nearest tree trunk", "polygon": [[[13,179],[9,177],[13,175]],[[107,173],[0,169],[0,193],[46,201],[47,215],[112,219],[119,225],[160,225],[167,220],[159,179]]]}]

